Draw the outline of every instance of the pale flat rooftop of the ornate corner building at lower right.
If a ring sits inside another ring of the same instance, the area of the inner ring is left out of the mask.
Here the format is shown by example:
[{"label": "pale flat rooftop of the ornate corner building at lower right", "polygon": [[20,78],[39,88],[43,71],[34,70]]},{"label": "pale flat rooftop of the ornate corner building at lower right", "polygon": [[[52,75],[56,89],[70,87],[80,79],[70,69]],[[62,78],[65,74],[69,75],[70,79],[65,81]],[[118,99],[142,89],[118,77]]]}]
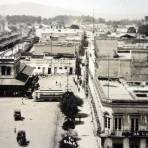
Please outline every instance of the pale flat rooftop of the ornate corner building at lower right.
[{"label": "pale flat rooftop of the ornate corner building at lower right", "polygon": [[148,82],[127,82],[117,78],[109,81],[107,78],[98,78],[96,82],[97,91],[103,102],[132,102],[138,105],[148,103]]}]

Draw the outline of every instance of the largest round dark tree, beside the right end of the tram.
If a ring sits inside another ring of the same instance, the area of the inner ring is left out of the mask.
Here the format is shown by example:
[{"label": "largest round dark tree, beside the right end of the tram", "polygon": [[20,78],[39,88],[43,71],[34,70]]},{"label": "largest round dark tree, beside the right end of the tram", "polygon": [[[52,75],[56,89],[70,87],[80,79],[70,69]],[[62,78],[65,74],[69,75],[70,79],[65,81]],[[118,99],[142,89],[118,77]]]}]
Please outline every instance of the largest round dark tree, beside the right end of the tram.
[{"label": "largest round dark tree, beside the right end of the tram", "polygon": [[78,106],[82,106],[83,100],[75,96],[73,92],[65,92],[60,101],[61,112],[68,118],[75,120],[78,114]]}]

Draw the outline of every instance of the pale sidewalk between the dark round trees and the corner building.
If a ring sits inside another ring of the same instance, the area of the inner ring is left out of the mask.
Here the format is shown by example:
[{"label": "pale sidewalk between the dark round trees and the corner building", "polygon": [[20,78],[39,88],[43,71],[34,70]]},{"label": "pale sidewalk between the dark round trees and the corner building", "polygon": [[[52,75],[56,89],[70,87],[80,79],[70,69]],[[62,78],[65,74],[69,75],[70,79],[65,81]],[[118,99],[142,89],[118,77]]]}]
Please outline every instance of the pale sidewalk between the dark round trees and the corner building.
[{"label": "pale sidewalk between the dark round trees and the corner building", "polygon": [[84,124],[76,125],[75,131],[78,132],[78,137],[80,140],[78,141],[80,148],[99,148],[99,144],[97,142],[97,137],[94,135],[94,127],[93,127],[93,121],[92,121],[92,114],[91,114],[91,107],[89,103],[89,98],[85,97],[85,92],[80,87],[80,92],[75,92],[75,94],[78,94],[80,98],[83,99],[84,104],[80,108],[80,113],[85,113],[88,115],[88,117],[81,118],[81,121],[84,122]]}]

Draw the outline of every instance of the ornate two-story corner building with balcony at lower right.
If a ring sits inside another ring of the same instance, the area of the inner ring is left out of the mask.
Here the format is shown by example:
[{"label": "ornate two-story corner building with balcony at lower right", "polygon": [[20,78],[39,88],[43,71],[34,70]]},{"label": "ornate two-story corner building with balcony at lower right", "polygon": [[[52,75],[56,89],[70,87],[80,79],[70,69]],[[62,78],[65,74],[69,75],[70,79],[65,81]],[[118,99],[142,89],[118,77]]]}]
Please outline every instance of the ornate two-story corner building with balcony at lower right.
[{"label": "ornate two-story corner building with balcony at lower right", "polygon": [[148,146],[148,100],[136,95],[121,79],[96,77],[91,96],[99,119],[98,135],[103,148]]}]

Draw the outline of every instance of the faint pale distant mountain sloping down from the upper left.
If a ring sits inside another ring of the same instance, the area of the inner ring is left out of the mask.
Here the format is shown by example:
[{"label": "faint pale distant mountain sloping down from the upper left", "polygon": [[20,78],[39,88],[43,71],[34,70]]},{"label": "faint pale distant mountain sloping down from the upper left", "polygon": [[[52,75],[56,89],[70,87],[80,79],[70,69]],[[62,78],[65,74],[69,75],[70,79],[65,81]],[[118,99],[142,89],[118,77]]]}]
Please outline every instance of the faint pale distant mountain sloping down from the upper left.
[{"label": "faint pale distant mountain sloping down from the upper left", "polygon": [[33,15],[42,17],[53,17],[56,15],[82,15],[83,12],[52,7],[48,5],[22,2],[17,4],[0,5],[0,14],[5,15]]}]

